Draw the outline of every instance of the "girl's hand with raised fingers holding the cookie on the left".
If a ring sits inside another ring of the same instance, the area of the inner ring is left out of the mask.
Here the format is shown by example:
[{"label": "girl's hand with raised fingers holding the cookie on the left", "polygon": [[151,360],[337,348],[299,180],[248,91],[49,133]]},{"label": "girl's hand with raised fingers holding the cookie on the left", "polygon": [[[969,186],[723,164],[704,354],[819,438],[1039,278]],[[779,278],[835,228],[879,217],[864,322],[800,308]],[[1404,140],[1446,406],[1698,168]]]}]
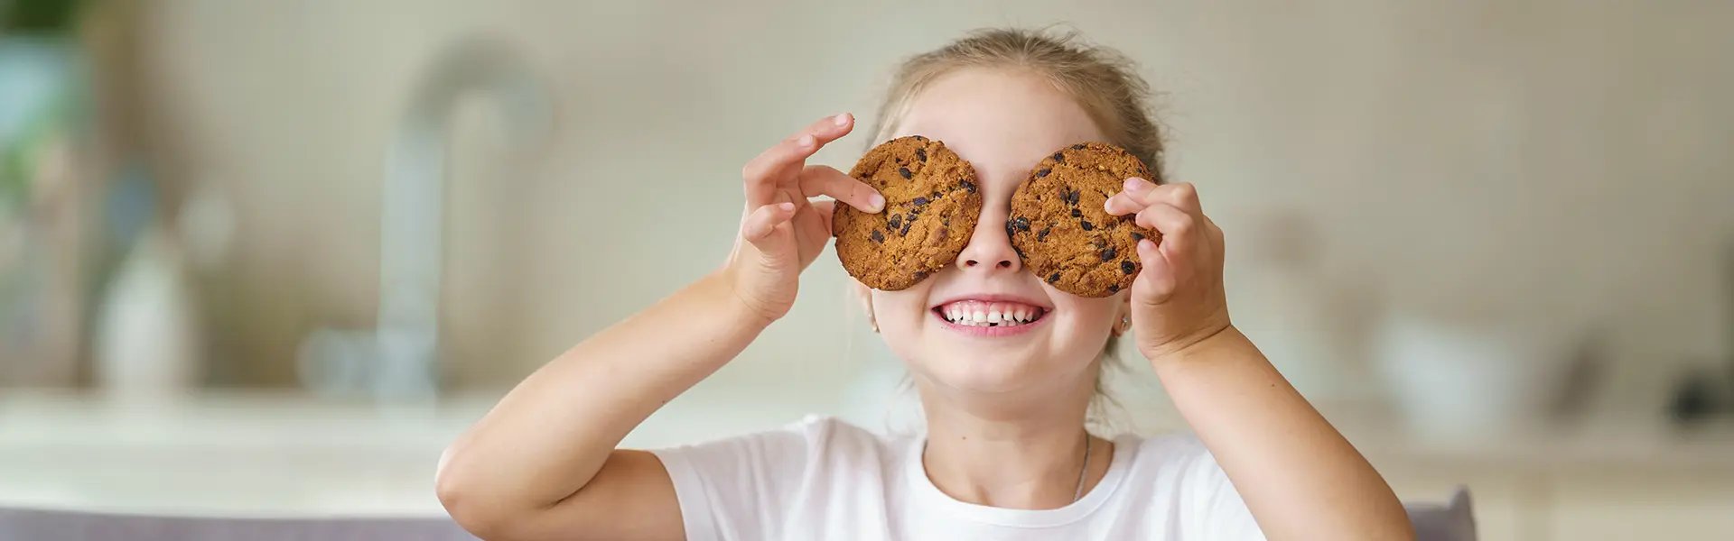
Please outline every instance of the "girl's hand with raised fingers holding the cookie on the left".
[{"label": "girl's hand with raised fingers holding the cookie on the left", "polygon": [[[740,218],[735,250],[723,267],[727,283],[747,309],[775,321],[794,305],[801,270],[831,239],[836,201],[877,213],[884,196],[870,186],[824,165],[805,165],[820,147],[848,135],[855,118],[827,116],[777,146],[740,170],[747,206]],[[808,201],[831,196],[836,201]]]}]

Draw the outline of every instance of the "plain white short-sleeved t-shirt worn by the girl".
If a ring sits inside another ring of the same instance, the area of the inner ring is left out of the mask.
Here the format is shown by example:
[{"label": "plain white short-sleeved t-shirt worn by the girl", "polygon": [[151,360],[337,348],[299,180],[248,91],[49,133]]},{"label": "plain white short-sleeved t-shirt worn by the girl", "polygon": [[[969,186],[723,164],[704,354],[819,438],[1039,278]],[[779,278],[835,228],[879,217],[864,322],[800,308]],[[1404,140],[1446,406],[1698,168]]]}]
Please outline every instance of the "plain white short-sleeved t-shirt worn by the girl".
[{"label": "plain white short-sleeved t-shirt worn by the girl", "polygon": [[928,479],[922,442],[808,416],[654,453],[675,480],[688,541],[1264,539],[1216,458],[1190,435],[1115,439],[1101,482],[1058,510],[952,499]]}]

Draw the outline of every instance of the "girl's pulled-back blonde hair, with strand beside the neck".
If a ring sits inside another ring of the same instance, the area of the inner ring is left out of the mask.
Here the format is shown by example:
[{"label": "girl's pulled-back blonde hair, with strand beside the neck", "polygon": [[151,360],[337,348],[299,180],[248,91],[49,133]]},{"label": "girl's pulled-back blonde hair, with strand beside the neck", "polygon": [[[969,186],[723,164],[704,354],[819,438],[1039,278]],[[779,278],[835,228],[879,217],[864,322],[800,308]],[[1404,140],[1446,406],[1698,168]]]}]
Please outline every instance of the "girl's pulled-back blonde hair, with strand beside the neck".
[{"label": "girl's pulled-back blonde hair, with strand beside the neck", "polygon": [[[1151,109],[1151,90],[1134,62],[1118,50],[1085,43],[1077,31],[987,28],[968,33],[945,47],[905,59],[874,118],[874,146],[898,128],[910,102],[943,75],[971,69],[1023,71],[1046,78],[1079,102],[1108,142],[1125,147],[1150,166],[1151,182],[1164,184],[1162,125]],[[1089,423],[1111,430],[1103,411],[1118,402],[1103,387],[1105,371],[1115,362],[1118,336],[1110,335],[1098,362],[1096,397]],[[1124,368],[1124,366],[1122,366]]]}]

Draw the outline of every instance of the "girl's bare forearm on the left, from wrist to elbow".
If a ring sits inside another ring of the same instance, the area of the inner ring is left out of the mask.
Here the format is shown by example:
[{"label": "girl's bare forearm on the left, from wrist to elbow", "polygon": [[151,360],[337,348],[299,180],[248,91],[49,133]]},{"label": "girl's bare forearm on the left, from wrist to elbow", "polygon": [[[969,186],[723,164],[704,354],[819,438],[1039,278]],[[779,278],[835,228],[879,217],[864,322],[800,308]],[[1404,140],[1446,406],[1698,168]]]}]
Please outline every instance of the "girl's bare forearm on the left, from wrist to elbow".
[{"label": "girl's bare forearm on the left, from wrist to elbow", "polygon": [[740,354],[765,321],[701,279],[544,364],[447,449],[440,484],[489,506],[583,489],[638,423]]}]

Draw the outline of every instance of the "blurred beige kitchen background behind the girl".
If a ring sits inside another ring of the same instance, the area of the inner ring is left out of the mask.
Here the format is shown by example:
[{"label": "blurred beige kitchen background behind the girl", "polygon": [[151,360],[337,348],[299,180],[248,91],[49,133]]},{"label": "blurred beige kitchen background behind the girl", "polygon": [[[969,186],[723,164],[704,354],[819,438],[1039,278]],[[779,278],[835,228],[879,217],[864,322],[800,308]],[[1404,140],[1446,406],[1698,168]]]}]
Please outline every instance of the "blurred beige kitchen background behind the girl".
[{"label": "blurred beige kitchen background behind the girl", "polygon": [[[1054,23],[1162,90],[1236,324],[1405,499],[1734,531],[1734,3],[1687,0],[5,0],[0,505],[439,513],[451,437],[723,260],[746,160]],[[628,444],[903,425],[846,279]],[[1108,427],[1183,430],[1125,364]]]}]

